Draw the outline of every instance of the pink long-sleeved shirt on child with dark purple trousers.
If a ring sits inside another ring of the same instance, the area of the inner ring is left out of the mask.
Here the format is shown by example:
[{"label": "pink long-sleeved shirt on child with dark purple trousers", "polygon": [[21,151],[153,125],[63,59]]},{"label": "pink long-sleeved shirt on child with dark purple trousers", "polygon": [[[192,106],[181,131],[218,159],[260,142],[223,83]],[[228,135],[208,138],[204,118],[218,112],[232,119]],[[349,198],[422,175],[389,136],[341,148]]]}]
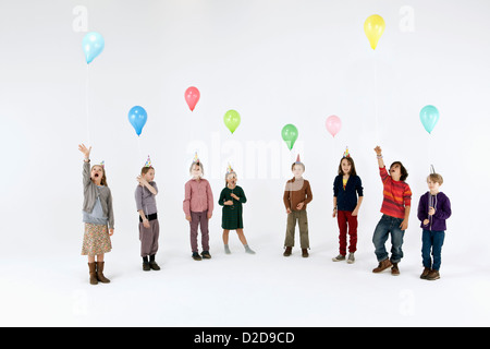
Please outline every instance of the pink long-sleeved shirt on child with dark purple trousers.
[{"label": "pink long-sleeved shirt on child with dark purple trousers", "polygon": [[185,183],[184,213],[191,216],[191,212],[205,212],[212,214],[215,203],[211,185],[205,179],[191,179]]}]

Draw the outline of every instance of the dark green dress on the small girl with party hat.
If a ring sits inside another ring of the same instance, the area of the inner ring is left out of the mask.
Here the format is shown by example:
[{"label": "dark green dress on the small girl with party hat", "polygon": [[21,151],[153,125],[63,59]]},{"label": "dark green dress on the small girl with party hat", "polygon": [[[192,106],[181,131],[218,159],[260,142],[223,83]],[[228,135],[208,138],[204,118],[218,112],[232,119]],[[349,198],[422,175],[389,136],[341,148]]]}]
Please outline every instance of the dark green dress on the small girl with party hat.
[{"label": "dark green dress on the small girl with party hat", "polygon": [[[235,200],[231,196],[231,194],[235,194],[240,200]],[[224,205],[225,201],[232,200],[233,205]],[[233,190],[230,188],[224,188],[221,191],[220,200],[218,204],[223,206],[223,215],[221,218],[221,228],[226,230],[236,230],[243,229],[243,207],[242,204],[245,204],[247,198],[243,189],[236,185]]]}]

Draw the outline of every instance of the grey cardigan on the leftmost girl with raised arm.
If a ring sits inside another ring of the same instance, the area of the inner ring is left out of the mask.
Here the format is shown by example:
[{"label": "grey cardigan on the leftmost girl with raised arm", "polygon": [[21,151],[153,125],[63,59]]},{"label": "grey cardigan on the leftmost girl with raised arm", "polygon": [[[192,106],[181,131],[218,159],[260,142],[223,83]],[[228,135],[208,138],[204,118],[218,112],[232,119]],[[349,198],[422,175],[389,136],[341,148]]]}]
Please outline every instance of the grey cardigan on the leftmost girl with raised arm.
[{"label": "grey cardigan on the leftmost girl with raised arm", "polygon": [[90,163],[84,161],[83,170],[84,183],[84,206],[83,210],[91,213],[97,202],[97,196],[100,197],[103,216],[108,218],[109,229],[114,229],[114,214],[112,212],[112,195],[109,186],[97,186],[90,179]]}]

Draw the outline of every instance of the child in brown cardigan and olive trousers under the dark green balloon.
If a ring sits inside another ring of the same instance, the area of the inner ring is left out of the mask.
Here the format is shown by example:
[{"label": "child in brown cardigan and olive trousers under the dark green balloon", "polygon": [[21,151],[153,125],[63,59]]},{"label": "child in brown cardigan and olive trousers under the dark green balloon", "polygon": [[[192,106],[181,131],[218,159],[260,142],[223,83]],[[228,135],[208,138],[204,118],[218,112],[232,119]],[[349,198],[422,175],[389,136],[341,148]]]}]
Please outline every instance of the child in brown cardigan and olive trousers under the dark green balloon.
[{"label": "child in brown cardigan and olive trousers under the dark green balloon", "polygon": [[299,244],[303,256],[308,256],[309,238],[308,238],[308,216],[306,215],[306,205],[311,202],[313,194],[309,182],[303,178],[305,165],[297,156],[296,163],[291,167],[294,178],[286,182],[284,189],[284,206],[287,213],[287,227],[284,241],[284,256],[290,256],[294,246],[294,231],[296,221],[299,226]]}]

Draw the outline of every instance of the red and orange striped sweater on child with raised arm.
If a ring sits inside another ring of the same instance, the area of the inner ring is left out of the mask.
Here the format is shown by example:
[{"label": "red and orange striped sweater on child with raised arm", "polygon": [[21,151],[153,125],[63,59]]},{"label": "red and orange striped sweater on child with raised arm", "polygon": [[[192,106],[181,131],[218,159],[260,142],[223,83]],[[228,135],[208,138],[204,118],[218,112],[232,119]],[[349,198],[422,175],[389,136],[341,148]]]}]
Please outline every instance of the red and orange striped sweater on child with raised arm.
[{"label": "red and orange striped sweater on child with raised arm", "polygon": [[412,191],[404,181],[395,181],[387,168],[380,168],[379,174],[383,182],[383,204],[381,213],[391,217],[405,218],[405,206],[411,206]]}]

